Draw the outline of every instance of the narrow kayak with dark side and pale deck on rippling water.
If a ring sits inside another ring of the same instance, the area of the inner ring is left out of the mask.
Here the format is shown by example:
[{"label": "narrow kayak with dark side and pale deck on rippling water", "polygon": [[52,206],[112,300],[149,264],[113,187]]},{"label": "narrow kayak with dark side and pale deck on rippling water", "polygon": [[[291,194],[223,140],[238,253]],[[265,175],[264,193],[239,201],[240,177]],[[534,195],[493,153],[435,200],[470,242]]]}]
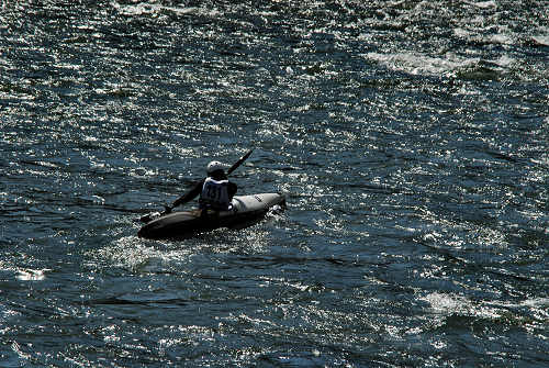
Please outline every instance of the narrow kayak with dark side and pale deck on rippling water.
[{"label": "narrow kayak with dark side and pale deck on rippling water", "polygon": [[220,227],[242,228],[260,221],[270,209],[284,207],[284,196],[279,193],[235,196],[232,209],[228,211],[171,212],[143,225],[137,235],[144,238],[161,239],[186,237]]}]

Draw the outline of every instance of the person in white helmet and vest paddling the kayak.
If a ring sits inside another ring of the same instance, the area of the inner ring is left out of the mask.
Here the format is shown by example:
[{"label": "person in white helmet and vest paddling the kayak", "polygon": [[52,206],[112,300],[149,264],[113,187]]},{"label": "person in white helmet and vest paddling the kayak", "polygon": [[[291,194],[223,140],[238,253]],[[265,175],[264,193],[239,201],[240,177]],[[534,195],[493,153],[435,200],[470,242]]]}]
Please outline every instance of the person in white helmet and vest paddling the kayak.
[{"label": "person in white helmet and vest paddling the kayak", "polygon": [[231,201],[237,191],[237,186],[228,181],[225,174],[225,165],[220,161],[211,161],[206,167],[208,177],[197,182],[194,188],[178,198],[173,204],[166,208],[170,212],[175,207],[184,204],[200,196],[201,210],[228,211]]}]

